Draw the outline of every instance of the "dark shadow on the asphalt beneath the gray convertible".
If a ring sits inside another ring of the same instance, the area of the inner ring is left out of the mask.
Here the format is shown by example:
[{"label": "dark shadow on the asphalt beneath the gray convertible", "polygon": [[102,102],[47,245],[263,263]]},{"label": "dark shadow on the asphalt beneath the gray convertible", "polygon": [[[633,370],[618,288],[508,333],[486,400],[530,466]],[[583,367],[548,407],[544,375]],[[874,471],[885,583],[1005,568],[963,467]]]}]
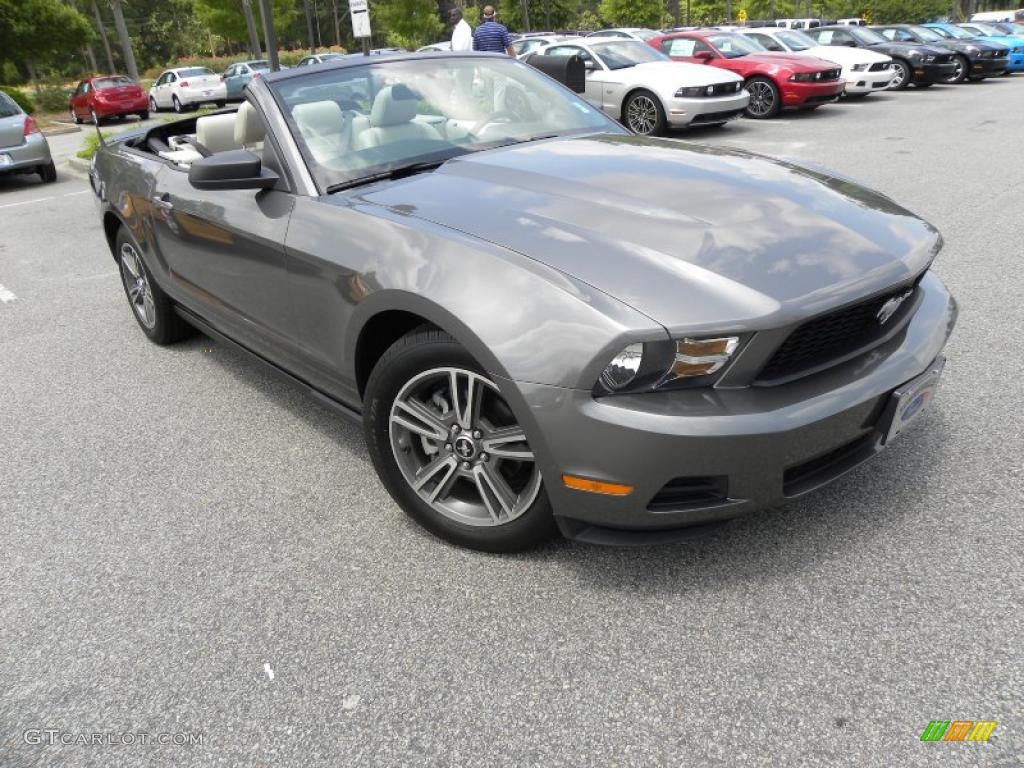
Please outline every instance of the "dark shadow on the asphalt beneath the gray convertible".
[{"label": "dark shadow on the asphalt beneath the gray convertible", "polygon": [[[249,355],[203,335],[179,347],[194,351],[211,344],[217,345],[222,353],[210,355],[209,359],[241,386],[286,409],[325,439],[342,443],[349,454],[370,464],[360,425],[318,402],[301,387]],[[561,565],[600,589],[630,594],[678,593],[737,581],[762,583],[775,574],[814,567],[837,553],[884,541],[907,509],[926,504],[923,490],[942,471],[941,464],[934,461],[936,446],[952,442],[940,416],[932,414],[922,427],[902,435],[893,447],[825,488],[783,507],[732,520],[699,538],[616,548],[572,543],[556,536],[529,552],[474,553],[474,556]],[[925,461],[922,457],[932,459]],[[912,466],[908,468],[908,464]],[[380,482],[371,473],[367,481]],[[339,496],[346,494],[344,486],[337,490]],[[410,520],[397,505],[389,504],[392,519],[404,523],[401,536],[422,537],[429,546],[453,547]],[[390,523],[382,520],[381,524]]]}]

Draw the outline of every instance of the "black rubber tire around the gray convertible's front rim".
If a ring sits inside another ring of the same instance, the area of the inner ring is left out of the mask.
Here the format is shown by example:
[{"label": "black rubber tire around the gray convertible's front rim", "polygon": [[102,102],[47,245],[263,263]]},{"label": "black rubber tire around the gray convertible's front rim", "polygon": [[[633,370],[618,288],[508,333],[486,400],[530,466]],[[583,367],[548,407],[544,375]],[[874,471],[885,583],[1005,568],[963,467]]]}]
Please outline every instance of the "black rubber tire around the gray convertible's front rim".
[{"label": "black rubber tire around the gray convertible's front rim", "polygon": [[[433,509],[402,475],[392,450],[391,409],[407,384],[424,372],[445,367],[484,375],[483,369],[454,338],[427,328],[398,339],[374,367],[364,398],[362,425],[377,474],[410,517],[447,542],[483,552],[517,552],[538,546],[556,530],[543,483],[530,506],[518,517],[501,524],[472,525]],[[500,396],[499,399],[504,402]]]}]

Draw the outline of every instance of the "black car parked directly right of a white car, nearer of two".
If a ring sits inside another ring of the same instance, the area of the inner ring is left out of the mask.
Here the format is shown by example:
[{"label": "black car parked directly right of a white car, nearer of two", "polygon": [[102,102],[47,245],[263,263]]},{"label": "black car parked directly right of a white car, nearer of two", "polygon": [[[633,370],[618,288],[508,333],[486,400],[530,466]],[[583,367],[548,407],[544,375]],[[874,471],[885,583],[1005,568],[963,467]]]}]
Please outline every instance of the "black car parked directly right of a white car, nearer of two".
[{"label": "black car parked directly right of a white car, nearer of two", "polygon": [[955,56],[948,48],[919,43],[893,42],[867,27],[836,25],[805,30],[821,45],[846,45],[851,48],[868,48],[892,56],[893,88],[906,88],[911,83],[927,88],[934,83],[947,83],[955,74]]}]

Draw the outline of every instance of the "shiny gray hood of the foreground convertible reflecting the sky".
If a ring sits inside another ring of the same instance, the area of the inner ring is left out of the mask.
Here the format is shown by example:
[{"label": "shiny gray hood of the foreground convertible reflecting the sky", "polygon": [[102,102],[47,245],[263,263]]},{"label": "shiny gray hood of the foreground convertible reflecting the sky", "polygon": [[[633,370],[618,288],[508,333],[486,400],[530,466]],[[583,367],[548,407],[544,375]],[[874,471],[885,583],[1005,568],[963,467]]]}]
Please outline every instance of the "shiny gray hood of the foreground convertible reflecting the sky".
[{"label": "shiny gray hood of the foreground convertible reflecting the sky", "polygon": [[344,204],[511,249],[672,332],[771,328],[824,311],[920,273],[941,242],[848,180],[637,136],[523,143],[353,191]]}]

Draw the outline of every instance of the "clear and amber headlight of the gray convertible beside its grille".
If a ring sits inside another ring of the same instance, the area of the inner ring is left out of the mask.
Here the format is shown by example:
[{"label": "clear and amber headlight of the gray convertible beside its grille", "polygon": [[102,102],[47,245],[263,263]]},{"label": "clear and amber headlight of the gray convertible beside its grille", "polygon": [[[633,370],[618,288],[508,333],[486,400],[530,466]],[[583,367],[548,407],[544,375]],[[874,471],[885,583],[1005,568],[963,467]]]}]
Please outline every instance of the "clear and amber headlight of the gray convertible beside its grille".
[{"label": "clear and amber headlight of the gray convertible beside its grille", "polygon": [[738,336],[633,343],[611,358],[595,394],[708,386],[739,347]]}]

